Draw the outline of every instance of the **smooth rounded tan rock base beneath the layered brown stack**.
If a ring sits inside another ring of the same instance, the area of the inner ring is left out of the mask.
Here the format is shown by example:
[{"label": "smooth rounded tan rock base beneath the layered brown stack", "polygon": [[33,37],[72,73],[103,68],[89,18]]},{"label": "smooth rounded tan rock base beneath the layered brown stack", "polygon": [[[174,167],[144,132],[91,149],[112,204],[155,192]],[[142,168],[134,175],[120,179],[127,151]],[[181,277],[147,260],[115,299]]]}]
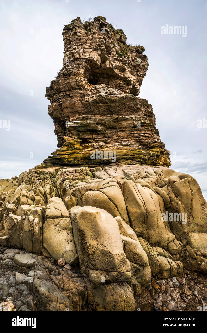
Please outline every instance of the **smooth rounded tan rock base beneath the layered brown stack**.
[{"label": "smooth rounded tan rock base beneath the layered brown stack", "polygon": [[[36,256],[8,253],[2,267],[32,269],[41,255],[67,269],[78,264],[84,277],[74,305],[60,295],[65,290],[69,296],[67,276],[48,279],[38,270],[33,286],[38,308],[134,311],[152,277],[180,276],[183,267],[207,272],[207,203],[191,176],[164,166],[117,165],[34,169],[23,180],[1,193],[0,244]],[[3,290],[8,295],[6,286]]]}]

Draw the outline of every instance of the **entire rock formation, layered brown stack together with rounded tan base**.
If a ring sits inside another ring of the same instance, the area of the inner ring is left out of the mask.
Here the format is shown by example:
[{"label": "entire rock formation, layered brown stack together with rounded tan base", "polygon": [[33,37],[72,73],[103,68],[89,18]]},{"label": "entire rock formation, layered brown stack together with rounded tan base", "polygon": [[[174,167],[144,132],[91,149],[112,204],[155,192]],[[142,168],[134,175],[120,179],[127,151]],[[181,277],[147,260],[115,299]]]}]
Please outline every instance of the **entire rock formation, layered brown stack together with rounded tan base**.
[{"label": "entire rock formation, layered brown stack together with rounded tan base", "polygon": [[[73,20],[63,40],[46,92],[60,149],[0,180],[0,307],[135,311],[143,297],[163,311],[205,306],[207,288],[186,269],[207,272],[207,203],[193,177],[169,168],[151,105],[136,96],[144,48],[101,16]],[[117,159],[91,159],[96,150]]]}]

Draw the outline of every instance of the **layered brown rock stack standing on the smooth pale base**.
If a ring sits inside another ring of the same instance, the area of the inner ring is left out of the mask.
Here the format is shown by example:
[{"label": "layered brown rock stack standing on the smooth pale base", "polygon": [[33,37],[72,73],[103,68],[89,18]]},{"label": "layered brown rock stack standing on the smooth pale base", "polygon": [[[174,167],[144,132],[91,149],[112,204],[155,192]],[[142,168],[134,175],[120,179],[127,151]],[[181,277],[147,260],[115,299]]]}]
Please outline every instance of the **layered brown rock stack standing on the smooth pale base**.
[{"label": "layered brown rock stack standing on the smooth pale base", "polygon": [[[102,16],[84,24],[77,17],[62,34],[63,68],[45,95],[60,149],[36,168],[114,162],[169,166],[152,106],[138,97],[148,69],[143,46],[127,45],[123,31]],[[111,152],[115,158],[107,159]]]}]

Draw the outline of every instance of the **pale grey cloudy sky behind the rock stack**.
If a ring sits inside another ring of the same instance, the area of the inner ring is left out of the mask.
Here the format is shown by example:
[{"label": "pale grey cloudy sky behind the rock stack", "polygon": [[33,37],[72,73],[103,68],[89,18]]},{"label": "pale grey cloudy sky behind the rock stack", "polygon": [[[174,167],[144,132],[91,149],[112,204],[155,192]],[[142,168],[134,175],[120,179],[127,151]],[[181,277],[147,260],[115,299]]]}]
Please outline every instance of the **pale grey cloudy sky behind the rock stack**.
[{"label": "pale grey cloudy sky behind the rock stack", "polygon": [[[171,168],[207,189],[206,0],[1,0],[0,12],[0,119],[8,121],[0,128],[0,178],[18,176],[57,148],[44,95],[62,67],[63,26],[102,15],[145,47],[149,69],[139,96],[153,106]],[[161,34],[167,25],[183,26],[186,37]]]}]

